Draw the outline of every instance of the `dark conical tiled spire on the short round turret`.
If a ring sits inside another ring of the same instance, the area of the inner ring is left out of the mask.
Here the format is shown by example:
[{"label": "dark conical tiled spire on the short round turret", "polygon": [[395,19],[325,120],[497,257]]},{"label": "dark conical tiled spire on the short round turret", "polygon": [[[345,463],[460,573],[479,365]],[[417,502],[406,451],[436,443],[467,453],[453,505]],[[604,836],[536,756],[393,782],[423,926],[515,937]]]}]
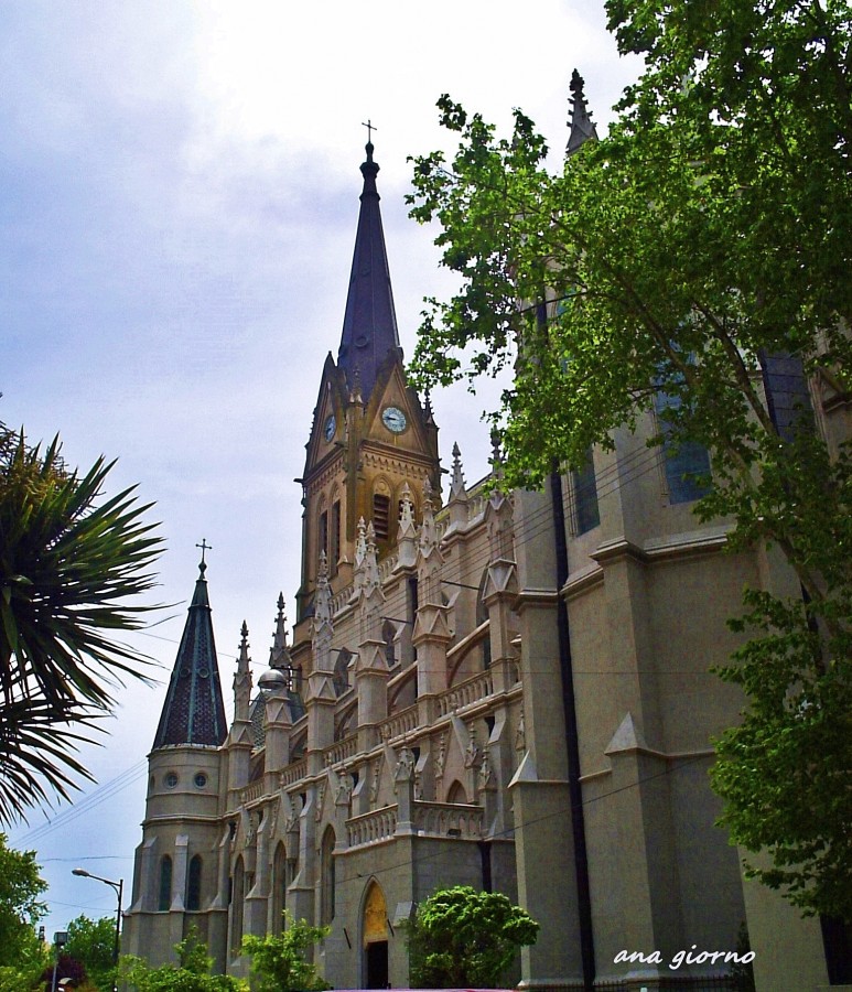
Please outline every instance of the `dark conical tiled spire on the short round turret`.
[{"label": "dark conical tiled spire on the short round turret", "polygon": [[227,735],[211,604],[204,578],[207,571],[204,551],[208,547],[205,544],[202,548],[199,574],[157,727],[154,750],[173,744],[218,746]]}]

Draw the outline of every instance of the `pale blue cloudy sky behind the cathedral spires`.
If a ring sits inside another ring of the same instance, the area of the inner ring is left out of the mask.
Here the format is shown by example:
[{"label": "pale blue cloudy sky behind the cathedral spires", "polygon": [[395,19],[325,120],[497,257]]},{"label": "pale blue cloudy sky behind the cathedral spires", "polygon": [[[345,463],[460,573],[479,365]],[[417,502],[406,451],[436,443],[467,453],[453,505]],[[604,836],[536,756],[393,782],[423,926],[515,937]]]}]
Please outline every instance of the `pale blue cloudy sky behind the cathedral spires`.
[{"label": "pale blue cloudy sky behind the cathedral spires", "polygon": [[[155,683],[118,686],[73,804],[9,830],[50,888],[48,938],[110,915],[144,816],[153,741],[205,539],[226,708],[245,619],[255,678],[282,591],[299,585],[301,488],[322,365],[336,355],[366,129],[400,338],[446,295],[436,229],[407,217],[408,155],[452,151],[449,93],[503,133],[520,107],[568,139],[576,67],[598,132],[639,65],[621,58],[603,0],[3,0],[0,4],[0,420],[66,462],[118,459],[166,550],[129,643]],[[444,465],[487,471],[478,414],[494,389],[433,395]]]}]

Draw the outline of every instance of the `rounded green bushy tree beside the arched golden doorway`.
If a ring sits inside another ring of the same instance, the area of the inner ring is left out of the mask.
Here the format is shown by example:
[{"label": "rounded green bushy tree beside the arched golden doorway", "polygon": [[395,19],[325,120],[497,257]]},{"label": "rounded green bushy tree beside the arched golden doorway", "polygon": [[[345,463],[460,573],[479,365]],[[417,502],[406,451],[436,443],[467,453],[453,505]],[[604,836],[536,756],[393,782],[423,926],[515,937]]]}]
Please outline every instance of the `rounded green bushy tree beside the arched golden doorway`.
[{"label": "rounded green bushy tree beside the arched golden doorway", "polygon": [[439,888],[408,924],[410,982],[420,989],[498,988],[539,925],[498,892]]}]

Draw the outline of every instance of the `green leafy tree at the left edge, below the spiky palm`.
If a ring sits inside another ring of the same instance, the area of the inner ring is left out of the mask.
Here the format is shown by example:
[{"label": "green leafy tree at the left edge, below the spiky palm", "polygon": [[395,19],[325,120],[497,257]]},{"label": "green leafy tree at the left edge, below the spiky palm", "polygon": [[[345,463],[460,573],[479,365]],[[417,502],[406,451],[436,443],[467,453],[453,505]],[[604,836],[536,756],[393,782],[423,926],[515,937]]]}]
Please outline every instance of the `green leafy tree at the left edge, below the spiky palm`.
[{"label": "green leafy tree at the left edge, below the spiky palm", "polygon": [[39,896],[47,888],[34,851],[15,851],[0,833],[0,966],[32,957],[35,925],[47,907]]}]

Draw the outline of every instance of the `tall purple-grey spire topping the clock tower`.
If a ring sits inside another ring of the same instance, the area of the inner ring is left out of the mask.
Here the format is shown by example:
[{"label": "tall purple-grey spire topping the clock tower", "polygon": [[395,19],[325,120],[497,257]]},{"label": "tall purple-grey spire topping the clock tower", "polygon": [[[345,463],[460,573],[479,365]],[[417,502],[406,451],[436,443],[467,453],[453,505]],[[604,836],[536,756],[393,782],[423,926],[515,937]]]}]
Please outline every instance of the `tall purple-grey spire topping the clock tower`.
[{"label": "tall purple-grey spire topping the clock tower", "polygon": [[367,402],[376,384],[376,373],[391,352],[400,352],[397,315],[390,289],[390,270],[381,228],[373,142],[367,142],[367,161],[360,166],[364,191],[360,194],[358,231],[352,259],[349,294],[343,319],[337,365],[353,388],[355,369],[360,374],[360,392]]}]

